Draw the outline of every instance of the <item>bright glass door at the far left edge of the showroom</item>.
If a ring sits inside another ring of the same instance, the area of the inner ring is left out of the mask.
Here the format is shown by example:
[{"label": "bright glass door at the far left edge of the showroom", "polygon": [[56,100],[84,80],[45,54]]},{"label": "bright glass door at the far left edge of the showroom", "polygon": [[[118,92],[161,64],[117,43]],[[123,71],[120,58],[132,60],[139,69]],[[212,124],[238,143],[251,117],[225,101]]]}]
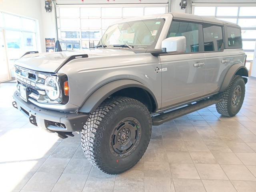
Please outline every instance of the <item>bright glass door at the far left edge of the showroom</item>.
[{"label": "bright glass door at the far left edge of the showroom", "polygon": [[0,30],[0,69],[0,82],[10,80],[8,62],[6,58],[4,32],[2,30]]}]

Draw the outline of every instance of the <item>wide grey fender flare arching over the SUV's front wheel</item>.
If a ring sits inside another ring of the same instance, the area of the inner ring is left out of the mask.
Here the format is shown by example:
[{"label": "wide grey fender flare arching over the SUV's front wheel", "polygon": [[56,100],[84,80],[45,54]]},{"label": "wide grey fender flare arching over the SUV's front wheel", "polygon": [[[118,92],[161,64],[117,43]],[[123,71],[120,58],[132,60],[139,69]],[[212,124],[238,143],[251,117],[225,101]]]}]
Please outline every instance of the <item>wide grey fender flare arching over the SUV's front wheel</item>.
[{"label": "wide grey fender flare arching over the SUV's front wheel", "polygon": [[98,88],[85,100],[84,104],[78,111],[84,113],[91,113],[95,111],[96,108],[110,95],[114,94],[119,90],[130,87],[138,87],[146,90],[154,99],[156,109],[158,108],[156,97],[154,96],[153,92],[150,89],[148,89],[146,86],[144,86],[142,83],[138,81],[130,79],[121,79],[109,82]]}]

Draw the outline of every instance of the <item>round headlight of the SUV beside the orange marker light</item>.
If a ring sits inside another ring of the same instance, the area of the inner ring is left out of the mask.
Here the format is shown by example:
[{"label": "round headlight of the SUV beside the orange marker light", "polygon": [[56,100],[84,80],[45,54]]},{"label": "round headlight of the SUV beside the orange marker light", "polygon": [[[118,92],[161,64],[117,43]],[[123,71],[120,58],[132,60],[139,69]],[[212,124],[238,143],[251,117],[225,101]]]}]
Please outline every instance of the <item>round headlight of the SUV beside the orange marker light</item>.
[{"label": "round headlight of the SUV beside the orange marker light", "polygon": [[56,100],[60,97],[60,86],[56,78],[48,76],[45,79],[44,85],[48,87],[45,92],[51,100]]}]

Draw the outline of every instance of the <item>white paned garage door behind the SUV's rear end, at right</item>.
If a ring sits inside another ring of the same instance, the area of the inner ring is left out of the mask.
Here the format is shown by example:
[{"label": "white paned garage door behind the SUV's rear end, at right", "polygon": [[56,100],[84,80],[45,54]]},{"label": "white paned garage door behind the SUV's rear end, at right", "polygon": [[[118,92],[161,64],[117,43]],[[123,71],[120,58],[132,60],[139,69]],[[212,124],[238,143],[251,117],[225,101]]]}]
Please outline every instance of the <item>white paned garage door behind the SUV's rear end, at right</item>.
[{"label": "white paned garage door behind the SUV's rear end, at right", "polygon": [[247,55],[247,68],[254,56],[256,43],[256,4],[192,4],[192,14],[212,16],[233,22],[242,28],[243,49]]}]

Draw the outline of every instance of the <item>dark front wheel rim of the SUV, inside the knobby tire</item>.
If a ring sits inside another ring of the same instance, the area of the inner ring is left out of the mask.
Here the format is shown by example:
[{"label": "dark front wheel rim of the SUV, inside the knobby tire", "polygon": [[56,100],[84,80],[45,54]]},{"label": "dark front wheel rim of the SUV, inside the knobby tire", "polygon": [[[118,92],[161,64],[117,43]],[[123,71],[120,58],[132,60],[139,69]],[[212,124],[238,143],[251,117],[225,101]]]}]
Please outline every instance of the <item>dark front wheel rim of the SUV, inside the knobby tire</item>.
[{"label": "dark front wheel rim of the SUV, inside the knobby tire", "polygon": [[135,118],[124,118],[116,124],[110,137],[110,150],[114,156],[130,155],[138,146],[141,126]]}]

